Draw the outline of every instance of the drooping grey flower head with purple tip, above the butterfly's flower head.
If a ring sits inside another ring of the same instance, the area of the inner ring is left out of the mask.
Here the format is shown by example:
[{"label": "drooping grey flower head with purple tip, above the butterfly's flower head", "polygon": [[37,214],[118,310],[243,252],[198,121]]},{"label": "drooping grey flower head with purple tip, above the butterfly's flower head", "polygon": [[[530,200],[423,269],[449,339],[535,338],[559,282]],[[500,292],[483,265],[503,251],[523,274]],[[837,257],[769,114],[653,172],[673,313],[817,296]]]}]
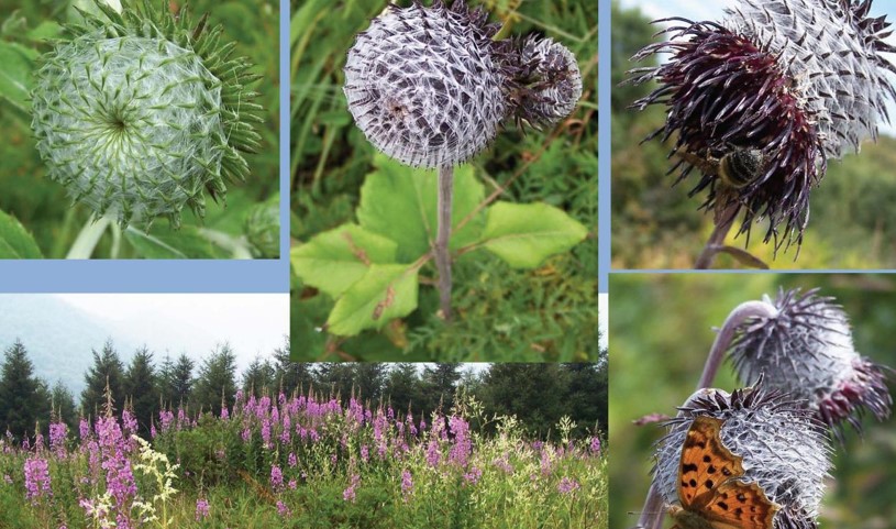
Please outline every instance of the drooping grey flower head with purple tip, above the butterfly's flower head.
[{"label": "drooping grey flower head with purple tip, above the butterfly's flower head", "polygon": [[878,420],[889,416],[885,368],[855,351],[847,315],[833,298],[817,289],[782,289],[766,301],[777,315],[745,321],[730,350],[742,382],[763,375],[767,387],[804,400],[829,427],[848,421],[858,429],[865,410]]}]

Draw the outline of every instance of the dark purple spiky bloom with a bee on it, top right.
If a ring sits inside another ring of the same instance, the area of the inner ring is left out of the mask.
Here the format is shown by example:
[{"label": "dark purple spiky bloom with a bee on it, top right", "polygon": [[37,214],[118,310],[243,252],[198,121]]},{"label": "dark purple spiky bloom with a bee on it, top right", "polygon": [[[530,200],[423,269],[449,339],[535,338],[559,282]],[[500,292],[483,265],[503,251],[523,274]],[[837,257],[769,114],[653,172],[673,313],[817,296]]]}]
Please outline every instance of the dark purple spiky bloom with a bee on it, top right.
[{"label": "dark purple spiky bloom with a bee on it, top right", "polygon": [[[634,79],[655,78],[661,84],[634,108],[668,107],[665,125],[648,140],[662,135],[666,141],[677,133],[671,156],[687,153],[697,159],[720,159],[733,148],[762,152],[765,166],[745,186],[733,189],[721,184],[720,175],[701,172],[690,195],[708,189],[701,208],[743,209],[739,233],[749,234],[753,221],[767,218],[764,242],[774,240],[776,247],[785,241],[801,243],[809,190],[823,176],[826,162],[812,117],[793,93],[794,81],[782,71],[777,57],[760,45],[712,22],[683,21],[688,25],[666,30],[673,32],[670,42],[635,55],[640,59],[673,53],[670,62]],[[681,181],[696,166],[678,157],[671,172],[681,169],[676,180]],[[784,238],[783,222],[788,234]]]}]

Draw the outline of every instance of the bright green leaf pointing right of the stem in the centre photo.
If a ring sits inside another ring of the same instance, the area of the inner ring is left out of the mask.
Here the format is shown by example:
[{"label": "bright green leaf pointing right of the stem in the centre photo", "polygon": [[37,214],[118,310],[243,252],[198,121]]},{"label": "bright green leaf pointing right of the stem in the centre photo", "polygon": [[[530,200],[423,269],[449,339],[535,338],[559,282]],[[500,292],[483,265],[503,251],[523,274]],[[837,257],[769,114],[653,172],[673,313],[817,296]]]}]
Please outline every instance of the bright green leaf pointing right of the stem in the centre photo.
[{"label": "bright green leaf pointing right of the stem in the centre photo", "polygon": [[515,268],[534,268],[587,234],[582,223],[553,206],[495,202],[488,209],[483,243]]}]

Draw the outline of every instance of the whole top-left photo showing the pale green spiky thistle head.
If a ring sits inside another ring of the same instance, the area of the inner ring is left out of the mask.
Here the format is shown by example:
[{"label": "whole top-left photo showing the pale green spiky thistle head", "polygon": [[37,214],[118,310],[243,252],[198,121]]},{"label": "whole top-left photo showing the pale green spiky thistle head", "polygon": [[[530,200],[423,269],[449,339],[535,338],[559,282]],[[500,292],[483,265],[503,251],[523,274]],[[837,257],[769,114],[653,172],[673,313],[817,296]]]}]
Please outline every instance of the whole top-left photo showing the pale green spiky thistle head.
[{"label": "whole top-left photo showing the pale green spiky thistle head", "polygon": [[0,21],[0,258],[279,257],[278,2]]}]

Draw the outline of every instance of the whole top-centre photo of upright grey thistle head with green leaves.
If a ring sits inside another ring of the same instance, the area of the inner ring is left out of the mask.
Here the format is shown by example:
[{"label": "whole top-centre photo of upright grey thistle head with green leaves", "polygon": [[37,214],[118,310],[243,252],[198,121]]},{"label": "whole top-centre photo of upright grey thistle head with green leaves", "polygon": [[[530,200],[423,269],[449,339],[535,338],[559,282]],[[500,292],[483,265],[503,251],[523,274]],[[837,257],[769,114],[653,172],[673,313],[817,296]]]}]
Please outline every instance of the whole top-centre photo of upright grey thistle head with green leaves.
[{"label": "whole top-centre photo of upright grey thistle head with green leaves", "polygon": [[596,362],[594,1],[291,2],[301,361]]}]

